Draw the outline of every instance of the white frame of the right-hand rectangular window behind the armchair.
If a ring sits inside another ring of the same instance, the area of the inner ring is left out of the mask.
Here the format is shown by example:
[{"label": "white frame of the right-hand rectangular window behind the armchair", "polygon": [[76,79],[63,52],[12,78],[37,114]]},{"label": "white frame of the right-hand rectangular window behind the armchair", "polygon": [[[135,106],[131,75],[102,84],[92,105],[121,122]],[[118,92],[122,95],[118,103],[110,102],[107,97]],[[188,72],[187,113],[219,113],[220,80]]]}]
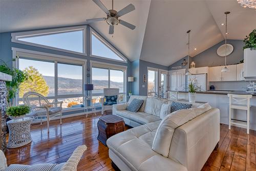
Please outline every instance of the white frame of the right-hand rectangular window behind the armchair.
[{"label": "white frame of the right-hand rectangular window behind the armchair", "polygon": [[[92,71],[92,68],[100,68],[100,69],[107,69],[108,70],[108,86],[110,88],[110,70],[123,70],[123,93],[119,92],[120,94],[124,95],[124,101],[126,102],[127,99],[127,66],[121,66],[121,65],[115,65],[115,64],[106,64],[104,62],[98,62],[98,61],[94,61],[94,60],[90,60],[90,71]],[[91,73],[91,78],[90,78],[90,82],[92,82],[92,73]],[[92,93],[92,96],[101,96],[103,95],[103,93]],[[122,102],[121,102],[122,103]]]}]

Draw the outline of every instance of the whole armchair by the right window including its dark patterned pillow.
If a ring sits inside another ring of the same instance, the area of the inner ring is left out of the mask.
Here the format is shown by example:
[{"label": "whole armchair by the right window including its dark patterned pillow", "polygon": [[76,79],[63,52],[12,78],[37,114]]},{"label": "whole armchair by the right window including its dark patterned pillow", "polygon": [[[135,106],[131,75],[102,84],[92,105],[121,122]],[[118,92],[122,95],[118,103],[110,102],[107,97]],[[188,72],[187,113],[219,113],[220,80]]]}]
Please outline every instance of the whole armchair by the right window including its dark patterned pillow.
[{"label": "whole armchair by the right window including its dark patterned pillow", "polygon": [[100,98],[100,102],[101,102],[101,115],[103,115],[104,111],[112,110],[112,105],[119,103],[119,89],[116,89],[116,88],[103,89],[103,97]]}]

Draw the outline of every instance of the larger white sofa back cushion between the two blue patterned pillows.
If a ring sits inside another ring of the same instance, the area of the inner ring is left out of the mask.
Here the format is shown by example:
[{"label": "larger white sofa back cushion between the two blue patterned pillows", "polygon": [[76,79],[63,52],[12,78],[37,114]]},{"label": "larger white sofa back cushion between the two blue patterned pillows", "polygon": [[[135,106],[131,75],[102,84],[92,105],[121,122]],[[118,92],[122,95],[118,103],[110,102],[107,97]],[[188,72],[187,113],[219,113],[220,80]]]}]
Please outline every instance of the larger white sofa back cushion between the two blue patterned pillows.
[{"label": "larger white sofa back cushion between the two blue patterned pillows", "polygon": [[167,103],[168,100],[155,97],[148,97],[146,99],[144,112],[160,117],[160,111],[163,103]]}]

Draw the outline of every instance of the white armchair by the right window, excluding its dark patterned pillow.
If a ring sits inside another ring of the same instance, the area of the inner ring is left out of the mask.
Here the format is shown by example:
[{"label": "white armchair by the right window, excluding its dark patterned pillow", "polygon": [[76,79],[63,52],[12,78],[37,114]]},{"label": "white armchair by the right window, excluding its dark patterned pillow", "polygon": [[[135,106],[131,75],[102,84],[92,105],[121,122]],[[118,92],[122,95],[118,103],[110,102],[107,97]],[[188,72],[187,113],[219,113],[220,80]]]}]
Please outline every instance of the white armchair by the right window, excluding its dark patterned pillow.
[{"label": "white armchair by the right window, excluding its dark patterned pillow", "polygon": [[118,104],[119,103],[119,89],[115,89],[115,88],[103,89],[103,97],[100,98],[101,115],[103,115],[104,111],[112,110],[112,105],[104,105],[105,96],[116,96],[116,95],[117,95],[117,104]]}]

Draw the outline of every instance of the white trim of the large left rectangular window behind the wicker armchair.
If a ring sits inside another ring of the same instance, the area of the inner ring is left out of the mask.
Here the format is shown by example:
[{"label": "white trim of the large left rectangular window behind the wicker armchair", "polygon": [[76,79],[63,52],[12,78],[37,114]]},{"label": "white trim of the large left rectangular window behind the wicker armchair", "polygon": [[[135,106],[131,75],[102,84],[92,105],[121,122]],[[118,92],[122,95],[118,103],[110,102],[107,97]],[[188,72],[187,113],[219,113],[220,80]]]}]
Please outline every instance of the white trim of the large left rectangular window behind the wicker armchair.
[{"label": "white trim of the large left rectangular window behind the wicker armchair", "polygon": [[[73,98],[73,97],[82,97],[84,100],[84,88],[83,85],[86,82],[86,68],[87,68],[87,59],[80,59],[80,58],[74,58],[74,57],[69,57],[69,56],[62,56],[62,55],[55,55],[51,53],[45,53],[45,52],[38,52],[38,51],[31,51],[31,50],[26,50],[26,49],[19,49],[19,48],[12,48],[12,58],[16,58],[16,55],[21,55],[21,56],[26,56],[26,58],[31,58],[31,59],[41,59],[41,60],[50,60],[56,63],[58,62],[64,62],[64,63],[70,63],[71,65],[82,65],[82,94],[68,94],[68,95],[58,95],[57,94],[57,86],[54,87],[54,96],[49,96],[46,97],[47,99],[59,99],[59,98]],[[56,65],[56,64],[55,64]],[[13,67],[18,68],[18,58],[17,60],[13,61]],[[57,68],[54,67],[55,69],[55,84],[57,84]],[[84,101],[83,101],[84,103]],[[18,104],[18,98],[17,96],[13,99],[13,104],[17,105]],[[84,104],[83,104],[84,105]],[[63,109],[63,112],[69,112],[69,111],[79,111],[83,110],[84,108],[74,108],[74,109]]]}]

